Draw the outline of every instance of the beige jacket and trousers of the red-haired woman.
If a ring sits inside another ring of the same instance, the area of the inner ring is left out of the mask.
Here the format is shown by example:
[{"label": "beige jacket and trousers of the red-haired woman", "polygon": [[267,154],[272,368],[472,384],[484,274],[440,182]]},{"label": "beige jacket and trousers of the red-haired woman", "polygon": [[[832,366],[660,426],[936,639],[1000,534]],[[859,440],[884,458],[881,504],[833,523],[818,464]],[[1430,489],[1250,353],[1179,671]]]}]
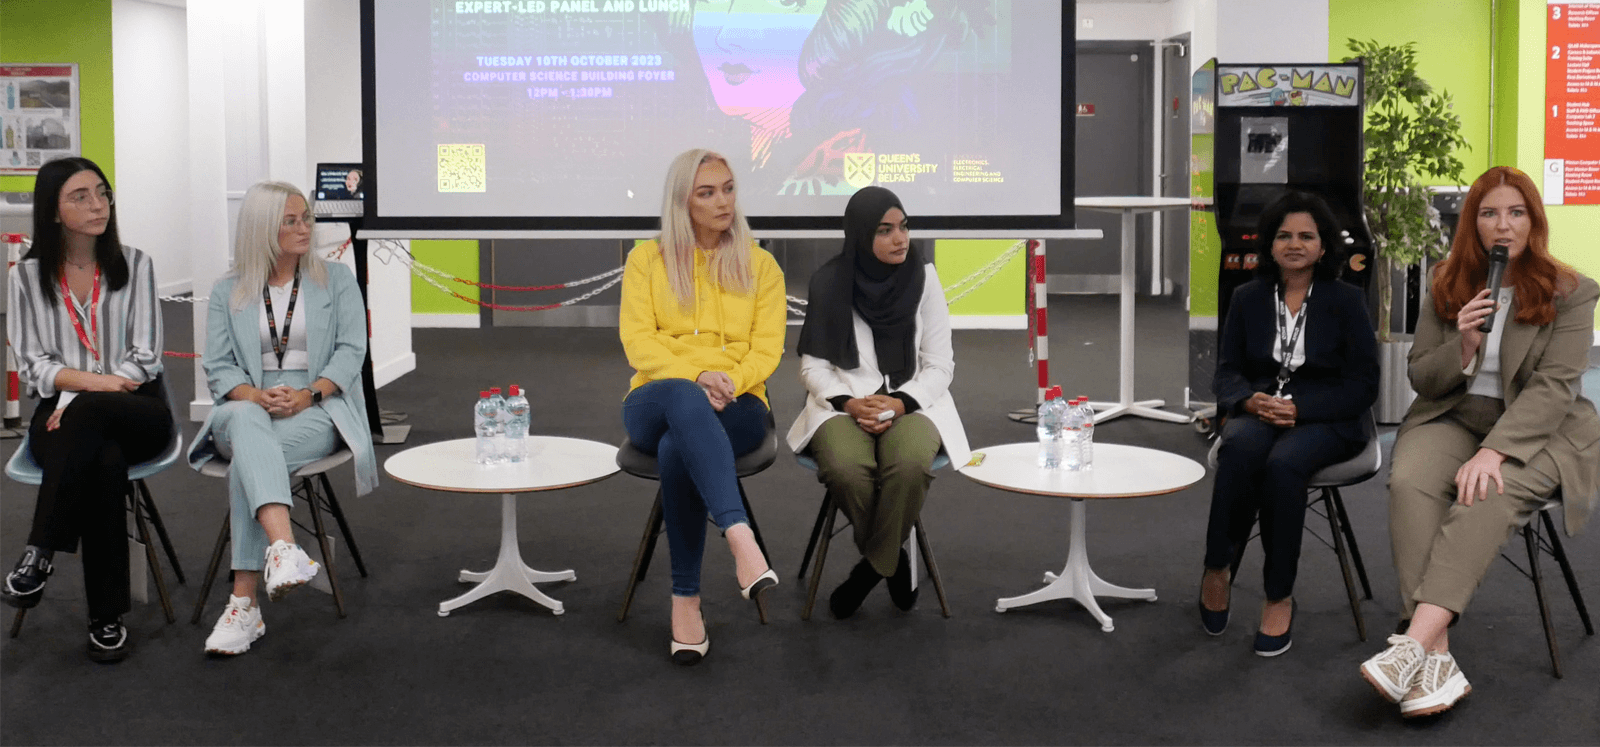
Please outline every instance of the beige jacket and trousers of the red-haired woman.
[{"label": "beige jacket and trousers of the red-haired woman", "polygon": [[[1461,333],[1432,314],[1411,347],[1416,401],[1400,424],[1389,475],[1389,534],[1405,617],[1419,601],[1466,609],[1510,533],[1562,486],[1566,533],[1576,536],[1597,497],[1600,416],[1581,393],[1600,286],[1579,277],[1558,290],[1555,322],[1530,326],[1506,314],[1499,347],[1502,398],[1467,393],[1483,349],[1461,368]],[[1506,493],[1456,502],[1456,470],[1478,448],[1506,454]]]}]

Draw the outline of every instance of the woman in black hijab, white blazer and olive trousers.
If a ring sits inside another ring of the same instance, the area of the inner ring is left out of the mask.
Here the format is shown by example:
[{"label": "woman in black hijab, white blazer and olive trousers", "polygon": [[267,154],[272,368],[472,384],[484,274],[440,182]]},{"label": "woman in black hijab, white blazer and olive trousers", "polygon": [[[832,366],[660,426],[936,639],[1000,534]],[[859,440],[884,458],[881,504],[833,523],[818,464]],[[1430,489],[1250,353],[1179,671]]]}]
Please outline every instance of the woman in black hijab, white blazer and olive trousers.
[{"label": "woman in black hijab, white blazer and olive trousers", "polygon": [[922,512],[933,459],[970,453],[950,398],[955,358],[939,274],[910,243],[894,192],[866,187],[845,208],[845,250],[811,275],[800,328],[806,403],[789,446],[854,526],[861,561],[829,608],[850,617],[888,577],[901,609],[917,603],[901,545]]}]

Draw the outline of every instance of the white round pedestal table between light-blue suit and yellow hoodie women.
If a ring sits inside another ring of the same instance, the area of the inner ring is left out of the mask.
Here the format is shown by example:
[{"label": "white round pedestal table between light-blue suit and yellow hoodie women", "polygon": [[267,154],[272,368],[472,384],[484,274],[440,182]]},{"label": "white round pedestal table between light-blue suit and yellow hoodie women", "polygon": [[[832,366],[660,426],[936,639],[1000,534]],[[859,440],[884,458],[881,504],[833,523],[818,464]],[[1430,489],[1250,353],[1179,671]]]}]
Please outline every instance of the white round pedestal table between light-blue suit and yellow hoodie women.
[{"label": "white round pedestal table between light-blue suit and yellow hoodie women", "polygon": [[461,571],[459,581],[477,581],[467,593],[438,603],[438,616],[470,605],[494,592],[517,592],[562,614],[560,601],[552,600],[533,584],[552,581],[578,581],[573,571],[536,571],[522,561],[517,545],[517,493],[539,493],[574,488],[605,480],[618,472],[616,446],[562,438],[554,435],[530,435],[528,459],[510,464],[478,464],[477,440],[429,443],[408,448],[384,461],[389,477],[418,488],[446,493],[499,493],[501,494],[501,549],[494,568],[488,571]]}]

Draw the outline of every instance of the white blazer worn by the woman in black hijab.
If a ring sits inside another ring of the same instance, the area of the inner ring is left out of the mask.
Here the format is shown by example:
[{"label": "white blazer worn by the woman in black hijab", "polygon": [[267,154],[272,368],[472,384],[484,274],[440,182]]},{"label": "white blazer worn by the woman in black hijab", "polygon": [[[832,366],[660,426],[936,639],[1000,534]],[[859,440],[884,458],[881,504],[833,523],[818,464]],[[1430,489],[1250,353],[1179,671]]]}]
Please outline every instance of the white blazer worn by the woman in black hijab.
[{"label": "white blazer worn by the woman in black hijab", "polygon": [[[939,285],[939,274],[930,264],[926,283],[922,291],[922,302],[917,306],[917,373],[899,387],[890,392],[906,392],[939,429],[942,451],[950,457],[950,464],[960,469],[971,457],[966,445],[966,430],[962,427],[962,416],[955,413],[955,400],[950,398],[950,379],[955,376],[955,352],[950,346],[950,309],[944,302],[944,286]],[[878,371],[878,352],[872,347],[872,328],[854,310],[850,312],[856,328],[856,352],[861,365],[842,370],[826,358],[813,355],[800,357],[800,382],[805,384],[806,398],[800,417],[789,427],[789,448],[800,453],[816,429],[829,417],[848,417],[834,409],[827,400],[832,397],[867,397],[888,385],[888,379]]]}]

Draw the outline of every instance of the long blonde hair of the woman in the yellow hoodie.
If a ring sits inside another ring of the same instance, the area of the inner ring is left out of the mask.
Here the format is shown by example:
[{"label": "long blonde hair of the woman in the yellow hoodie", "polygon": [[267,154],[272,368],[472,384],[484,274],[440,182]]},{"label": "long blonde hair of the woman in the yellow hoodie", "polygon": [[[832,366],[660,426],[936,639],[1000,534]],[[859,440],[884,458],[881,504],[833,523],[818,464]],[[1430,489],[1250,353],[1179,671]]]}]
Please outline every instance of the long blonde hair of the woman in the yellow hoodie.
[{"label": "long blonde hair of the woman in the yellow hoodie", "polygon": [[[694,176],[707,163],[722,163],[733,173],[728,158],[712,150],[685,150],[672,158],[667,168],[667,184],[661,200],[661,234],[656,243],[661,245],[661,261],[667,267],[667,283],[678,304],[688,307],[694,302],[694,224],[690,221],[690,194],[694,192]],[[738,178],[734,178],[733,222],[722,234],[717,246],[702,246],[710,251],[710,277],[718,288],[739,294],[755,288],[755,274],[750,269],[750,224],[744,221],[744,211],[738,200]]]}]

